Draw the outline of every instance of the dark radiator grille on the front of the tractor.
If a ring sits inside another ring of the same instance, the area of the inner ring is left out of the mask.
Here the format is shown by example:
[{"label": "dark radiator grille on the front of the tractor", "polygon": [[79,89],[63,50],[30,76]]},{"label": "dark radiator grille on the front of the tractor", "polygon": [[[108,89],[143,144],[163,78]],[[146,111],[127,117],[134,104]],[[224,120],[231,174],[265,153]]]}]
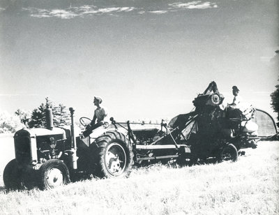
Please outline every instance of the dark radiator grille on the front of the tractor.
[{"label": "dark radiator grille on the front of the tractor", "polygon": [[15,158],[20,165],[31,163],[31,141],[29,137],[15,139]]}]

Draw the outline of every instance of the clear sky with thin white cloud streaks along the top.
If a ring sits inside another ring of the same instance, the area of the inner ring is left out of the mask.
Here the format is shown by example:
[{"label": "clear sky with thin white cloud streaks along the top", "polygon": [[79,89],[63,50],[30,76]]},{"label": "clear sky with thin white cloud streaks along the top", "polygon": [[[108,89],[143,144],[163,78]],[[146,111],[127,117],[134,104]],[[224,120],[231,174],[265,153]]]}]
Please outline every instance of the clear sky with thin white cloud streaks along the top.
[{"label": "clear sky with thin white cloud streaks along the top", "polygon": [[[190,112],[211,81],[231,103],[271,110],[278,84],[276,0],[0,0],[0,111],[49,97],[92,117]],[[276,59],[277,58],[277,59]],[[276,114],[273,114],[275,116]]]}]

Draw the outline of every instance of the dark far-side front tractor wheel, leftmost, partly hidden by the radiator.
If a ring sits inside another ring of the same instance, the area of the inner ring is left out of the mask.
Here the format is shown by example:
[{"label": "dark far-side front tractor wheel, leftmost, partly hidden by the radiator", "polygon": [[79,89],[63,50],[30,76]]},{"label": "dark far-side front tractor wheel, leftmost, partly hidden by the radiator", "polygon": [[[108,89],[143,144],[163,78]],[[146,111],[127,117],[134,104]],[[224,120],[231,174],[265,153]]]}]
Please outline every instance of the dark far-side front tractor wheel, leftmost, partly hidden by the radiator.
[{"label": "dark far-side front tractor wheel, leftmost, partly hidden by the radiator", "polygon": [[17,168],[17,161],[10,161],[3,172],[3,181],[8,190],[22,188],[21,171]]}]

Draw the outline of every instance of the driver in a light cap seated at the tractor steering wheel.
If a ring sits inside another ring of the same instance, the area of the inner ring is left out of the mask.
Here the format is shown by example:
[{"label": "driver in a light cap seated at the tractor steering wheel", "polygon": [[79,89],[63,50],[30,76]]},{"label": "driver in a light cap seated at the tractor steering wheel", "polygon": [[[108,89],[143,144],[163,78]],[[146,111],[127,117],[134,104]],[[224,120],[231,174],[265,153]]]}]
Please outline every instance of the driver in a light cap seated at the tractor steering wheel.
[{"label": "driver in a light cap seated at the tractor steering wheel", "polygon": [[[94,96],[93,103],[94,105],[96,105],[97,108],[96,110],[94,110],[94,116],[91,123],[86,126],[84,133],[82,133],[84,138],[89,136],[94,129],[103,126],[105,122],[105,118],[107,117],[107,111],[105,110],[104,107],[100,106],[102,101],[103,101],[102,98],[98,96]],[[97,119],[97,123],[96,123],[96,119]]]}]

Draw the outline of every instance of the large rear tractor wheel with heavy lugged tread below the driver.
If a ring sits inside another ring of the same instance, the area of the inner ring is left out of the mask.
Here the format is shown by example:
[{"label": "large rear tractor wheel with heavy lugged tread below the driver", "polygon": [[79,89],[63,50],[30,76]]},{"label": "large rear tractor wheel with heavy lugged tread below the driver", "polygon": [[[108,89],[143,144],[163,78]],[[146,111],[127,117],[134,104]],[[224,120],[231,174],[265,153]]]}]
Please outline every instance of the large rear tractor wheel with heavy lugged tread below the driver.
[{"label": "large rear tractor wheel with heavy lugged tread below the driver", "polygon": [[110,131],[95,141],[98,149],[93,151],[98,177],[128,177],[133,166],[132,147],[125,135]]}]

